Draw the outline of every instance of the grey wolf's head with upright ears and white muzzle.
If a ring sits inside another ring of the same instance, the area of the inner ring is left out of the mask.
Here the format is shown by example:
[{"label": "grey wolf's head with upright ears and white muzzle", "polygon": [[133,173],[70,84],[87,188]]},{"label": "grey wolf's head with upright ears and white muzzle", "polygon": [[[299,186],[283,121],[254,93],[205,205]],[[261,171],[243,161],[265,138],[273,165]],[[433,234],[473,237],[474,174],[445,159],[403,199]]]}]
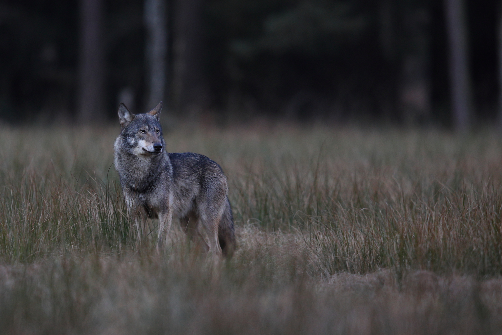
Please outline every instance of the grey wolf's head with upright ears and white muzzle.
[{"label": "grey wolf's head with upright ears and white muzzle", "polygon": [[162,127],[160,125],[160,110],[162,101],[152,110],[145,114],[134,115],[120,102],[118,105],[118,118],[122,131],[121,149],[127,150],[136,156],[157,156],[164,147]]}]

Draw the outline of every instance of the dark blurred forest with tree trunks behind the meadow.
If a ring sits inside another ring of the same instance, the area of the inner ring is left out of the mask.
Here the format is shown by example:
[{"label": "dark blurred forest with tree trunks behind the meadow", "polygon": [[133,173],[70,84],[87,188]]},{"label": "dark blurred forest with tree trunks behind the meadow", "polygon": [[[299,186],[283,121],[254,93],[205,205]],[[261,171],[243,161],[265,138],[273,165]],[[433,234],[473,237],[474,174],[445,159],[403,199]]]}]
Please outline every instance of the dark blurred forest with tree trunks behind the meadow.
[{"label": "dark blurred forest with tree trunks behind the meadow", "polygon": [[495,0],[2,0],[0,118],[102,122],[119,100],[162,99],[221,123],[493,123],[499,14]]}]

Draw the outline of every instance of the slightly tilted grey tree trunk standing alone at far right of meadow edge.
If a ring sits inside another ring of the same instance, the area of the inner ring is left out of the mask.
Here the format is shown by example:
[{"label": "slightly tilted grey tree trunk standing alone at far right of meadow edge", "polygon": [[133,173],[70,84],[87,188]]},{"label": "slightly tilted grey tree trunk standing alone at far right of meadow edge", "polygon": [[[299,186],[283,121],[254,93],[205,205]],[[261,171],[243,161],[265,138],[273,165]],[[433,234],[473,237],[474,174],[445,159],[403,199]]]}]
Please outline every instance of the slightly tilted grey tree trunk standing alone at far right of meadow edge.
[{"label": "slightly tilted grey tree trunk standing alone at far right of meadow edge", "polygon": [[454,125],[457,131],[465,132],[469,129],[472,95],[463,0],[445,0],[445,12],[450,46],[450,87]]}]

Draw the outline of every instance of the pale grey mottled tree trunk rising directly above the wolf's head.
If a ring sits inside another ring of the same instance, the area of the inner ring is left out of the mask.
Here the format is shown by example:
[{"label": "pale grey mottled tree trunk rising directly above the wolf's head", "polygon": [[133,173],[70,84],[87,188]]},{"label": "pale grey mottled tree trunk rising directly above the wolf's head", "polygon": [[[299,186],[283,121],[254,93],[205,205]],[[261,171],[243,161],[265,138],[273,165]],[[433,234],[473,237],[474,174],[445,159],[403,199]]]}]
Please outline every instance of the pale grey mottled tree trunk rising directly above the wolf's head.
[{"label": "pale grey mottled tree trunk rising directly above the wolf's head", "polygon": [[147,109],[164,99],[166,90],[167,26],[165,0],[145,0],[144,21],[147,28]]}]

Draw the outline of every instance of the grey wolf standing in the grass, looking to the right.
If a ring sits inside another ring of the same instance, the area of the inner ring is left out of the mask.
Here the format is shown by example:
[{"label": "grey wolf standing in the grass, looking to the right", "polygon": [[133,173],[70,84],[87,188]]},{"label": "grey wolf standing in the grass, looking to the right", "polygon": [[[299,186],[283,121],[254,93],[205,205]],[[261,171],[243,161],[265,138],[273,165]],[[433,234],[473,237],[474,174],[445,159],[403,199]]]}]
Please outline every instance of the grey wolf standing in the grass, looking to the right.
[{"label": "grey wolf standing in the grass, looking to the right", "polygon": [[122,102],[118,106],[121,131],[114,144],[114,164],[138,237],[147,218],[158,218],[161,251],[177,219],[197,248],[229,258],[235,233],[227,179],[206,156],[165,150],[161,109],[162,101],[138,115]]}]

